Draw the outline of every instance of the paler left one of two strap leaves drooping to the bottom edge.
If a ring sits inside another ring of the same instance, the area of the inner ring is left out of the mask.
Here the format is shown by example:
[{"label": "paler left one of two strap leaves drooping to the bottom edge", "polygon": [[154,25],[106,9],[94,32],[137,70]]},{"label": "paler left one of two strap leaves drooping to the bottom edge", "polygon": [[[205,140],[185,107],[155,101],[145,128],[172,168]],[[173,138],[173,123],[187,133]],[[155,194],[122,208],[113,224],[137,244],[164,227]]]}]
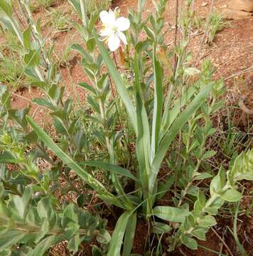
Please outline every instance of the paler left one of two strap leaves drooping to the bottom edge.
[{"label": "paler left one of two strap leaves drooping to the bottom edge", "polygon": [[132,211],[124,212],[117,221],[116,227],[114,228],[114,232],[112,234],[112,240],[109,244],[109,250],[107,252],[107,256],[119,256],[120,250],[122,248],[122,241],[124,238],[124,233],[126,231],[126,225],[129,221],[129,217],[131,216]]}]

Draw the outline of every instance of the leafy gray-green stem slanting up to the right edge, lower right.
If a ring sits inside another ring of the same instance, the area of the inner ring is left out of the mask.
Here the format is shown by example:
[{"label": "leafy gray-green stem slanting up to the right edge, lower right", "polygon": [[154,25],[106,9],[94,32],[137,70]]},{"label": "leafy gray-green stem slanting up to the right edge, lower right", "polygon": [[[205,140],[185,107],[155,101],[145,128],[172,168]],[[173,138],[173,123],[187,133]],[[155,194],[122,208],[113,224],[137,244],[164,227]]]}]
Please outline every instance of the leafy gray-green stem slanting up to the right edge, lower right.
[{"label": "leafy gray-green stem slanting up to the right edge, lower right", "polygon": [[194,238],[205,240],[205,233],[216,225],[214,218],[225,201],[237,202],[242,194],[237,191],[237,182],[242,179],[253,180],[253,150],[242,153],[235,159],[229,171],[220,169],[219,173],[210,183],[210,197],[208,200],[205,194],[198,192],[198,199],[194,203],[194,209],[185,218],[183,225],[179,228],[172,239],[170,250],[175,248],[177,242],[183,243],[191,249],[197,249],[198,243]]}]

